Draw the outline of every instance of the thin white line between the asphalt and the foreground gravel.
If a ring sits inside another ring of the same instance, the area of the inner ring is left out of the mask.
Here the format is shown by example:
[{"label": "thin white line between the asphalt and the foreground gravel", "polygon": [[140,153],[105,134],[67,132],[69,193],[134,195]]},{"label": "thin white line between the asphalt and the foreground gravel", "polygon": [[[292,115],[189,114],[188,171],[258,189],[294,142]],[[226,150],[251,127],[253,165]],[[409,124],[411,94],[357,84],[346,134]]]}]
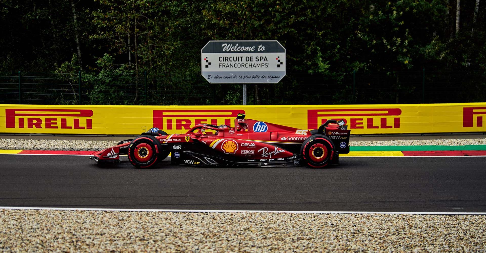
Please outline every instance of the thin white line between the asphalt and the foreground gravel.
[{"label": "thin white line between the asphalt and the foreground gravel", "polygon": [[173,212],[173,213],[290,213],[290,214],[420,214],[420,215],[486,215],[486,212],[353,212],[353,211],[263,211],[263,210],[192,210],[192,209],[120,209],[69,207],[0,206],[0,209],[57,210],[57,211],[119,211],[119,212]]}]

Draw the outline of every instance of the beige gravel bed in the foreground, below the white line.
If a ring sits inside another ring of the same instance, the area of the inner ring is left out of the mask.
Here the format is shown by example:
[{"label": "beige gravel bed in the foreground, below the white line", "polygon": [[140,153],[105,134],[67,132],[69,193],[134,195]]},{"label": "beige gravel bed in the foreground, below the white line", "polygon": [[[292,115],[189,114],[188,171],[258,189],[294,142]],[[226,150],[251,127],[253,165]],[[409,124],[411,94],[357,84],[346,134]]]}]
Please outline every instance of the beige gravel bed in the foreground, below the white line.
[{"label": "beige gravel bed in the foreground, below the white line", "polygon": [[484,215],[0,209],[3,252],[486,252]]}]

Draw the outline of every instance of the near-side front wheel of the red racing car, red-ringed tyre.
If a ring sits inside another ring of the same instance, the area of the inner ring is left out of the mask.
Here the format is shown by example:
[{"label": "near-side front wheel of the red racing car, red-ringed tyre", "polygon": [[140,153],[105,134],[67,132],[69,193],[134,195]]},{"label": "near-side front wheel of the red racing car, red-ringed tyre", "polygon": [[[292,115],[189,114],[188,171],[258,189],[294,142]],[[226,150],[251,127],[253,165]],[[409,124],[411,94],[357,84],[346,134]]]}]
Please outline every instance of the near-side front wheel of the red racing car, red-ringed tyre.
[{"label": "near-side front wheel of the red racing car, red-ringed tyre", "polygon": [[141,135],[128,146],[128,160],[136,168],[153,168],[162,152],[159,141],[151,135]]}]

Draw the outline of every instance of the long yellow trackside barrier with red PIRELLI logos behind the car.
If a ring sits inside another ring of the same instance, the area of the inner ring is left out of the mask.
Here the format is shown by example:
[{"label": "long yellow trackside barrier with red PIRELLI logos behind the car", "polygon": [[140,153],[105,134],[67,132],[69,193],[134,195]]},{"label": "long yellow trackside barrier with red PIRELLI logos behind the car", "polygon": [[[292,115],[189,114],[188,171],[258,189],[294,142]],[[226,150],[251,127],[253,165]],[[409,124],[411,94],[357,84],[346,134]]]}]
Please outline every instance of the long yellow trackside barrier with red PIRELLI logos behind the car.
[{"label": "long yellow trackside barrier with red PIRELLI logos behind the car", "polygon": [[231,124],[246,118],[317,129],[345,119],[351,134],[486,132],[486,103],[261,106],[112,106],[0,104],[0,132],[138,135],[158,127],[169,134],[197,123]]}]

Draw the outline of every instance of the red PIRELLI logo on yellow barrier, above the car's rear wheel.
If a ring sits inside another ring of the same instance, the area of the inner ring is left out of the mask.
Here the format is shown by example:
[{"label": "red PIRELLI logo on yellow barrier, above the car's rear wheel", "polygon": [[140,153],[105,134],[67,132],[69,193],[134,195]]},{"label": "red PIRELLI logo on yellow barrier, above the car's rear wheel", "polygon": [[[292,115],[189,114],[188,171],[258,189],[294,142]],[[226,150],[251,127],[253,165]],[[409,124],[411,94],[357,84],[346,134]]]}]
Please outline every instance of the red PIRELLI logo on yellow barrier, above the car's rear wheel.
[{"label": "red PIRELLI logo on yellow barrier, above the car's rear wheel", "polygon": [[399,108],[307,110],[307,127],[317,129],[328,119],[344,119],[350,129],[400,128],[400,115]]}]

